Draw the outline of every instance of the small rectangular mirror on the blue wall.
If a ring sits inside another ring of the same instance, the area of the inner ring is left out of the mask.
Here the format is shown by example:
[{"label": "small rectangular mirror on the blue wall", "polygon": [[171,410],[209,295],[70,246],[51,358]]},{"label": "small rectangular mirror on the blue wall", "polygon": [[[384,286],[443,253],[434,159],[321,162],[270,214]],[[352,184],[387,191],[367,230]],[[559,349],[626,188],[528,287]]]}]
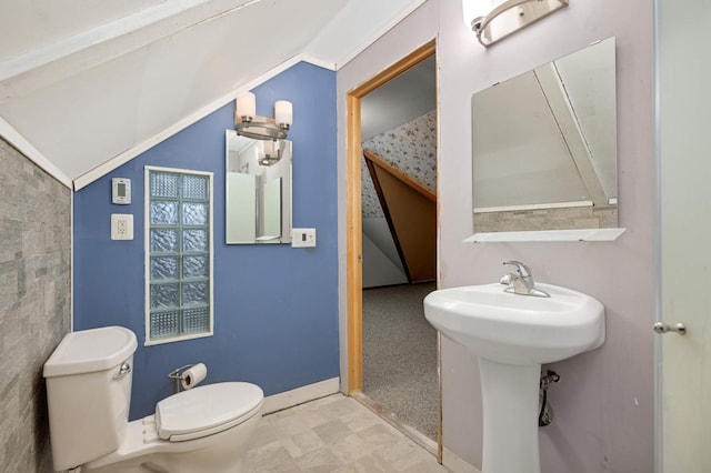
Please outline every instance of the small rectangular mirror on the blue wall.
[{"label": "small rectangular mirror on the blue wall", "polygon": [[291,141],[226,131],[226,243],[291,242]]}]

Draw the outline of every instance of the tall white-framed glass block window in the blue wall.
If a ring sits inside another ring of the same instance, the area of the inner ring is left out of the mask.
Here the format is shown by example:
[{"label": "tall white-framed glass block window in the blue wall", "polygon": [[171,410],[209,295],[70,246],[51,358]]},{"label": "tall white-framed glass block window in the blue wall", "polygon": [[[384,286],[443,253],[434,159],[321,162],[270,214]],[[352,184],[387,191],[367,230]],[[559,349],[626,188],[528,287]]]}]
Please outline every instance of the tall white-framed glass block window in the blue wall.
[{"label": "tall white-framed glass block window in the blue wall", "polygon": [[212,174],[146,168],[146,344],[212,334]]}]

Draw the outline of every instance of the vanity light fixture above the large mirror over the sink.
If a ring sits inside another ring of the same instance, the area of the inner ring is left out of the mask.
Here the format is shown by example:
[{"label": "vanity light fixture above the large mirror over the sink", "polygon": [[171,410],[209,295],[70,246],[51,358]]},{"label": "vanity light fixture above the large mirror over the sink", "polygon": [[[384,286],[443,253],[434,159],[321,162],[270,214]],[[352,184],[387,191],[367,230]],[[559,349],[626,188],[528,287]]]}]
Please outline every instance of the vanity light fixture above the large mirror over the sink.
[{"label": "vanity light fixture above the large mirror over the sink", "polygon": [[464,23],[488,48],[529,24],[545,18],[569,0],[462,0]]}]

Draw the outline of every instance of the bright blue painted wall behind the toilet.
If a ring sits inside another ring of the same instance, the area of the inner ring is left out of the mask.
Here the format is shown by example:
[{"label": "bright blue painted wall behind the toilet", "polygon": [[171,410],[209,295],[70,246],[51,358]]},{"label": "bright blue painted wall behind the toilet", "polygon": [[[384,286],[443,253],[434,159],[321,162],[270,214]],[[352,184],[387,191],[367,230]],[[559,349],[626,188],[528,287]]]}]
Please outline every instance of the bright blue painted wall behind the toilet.
[{"label": "bright blue painted wall behind the toilet", "polygon": [[[266,395],[339,375],[336,73],[298,63],[256,88],[257,113],[293,103],[293,227],[316,228],[318,246],[224,244],[224,130],[234,102],[157,144],[74,194],[74,330],[123,325],[139,339],[131,419],[172,393],[167,378],[208,365],[204,383],[249,381]],[[127,123],[127,127],[130,125]],[[143,167],[214,173],[214,335],[143,346]],[[111,178],[130,178],[132,203],[111,204]],[[132,213],[133,241],[111,241],[110,214]]]}]

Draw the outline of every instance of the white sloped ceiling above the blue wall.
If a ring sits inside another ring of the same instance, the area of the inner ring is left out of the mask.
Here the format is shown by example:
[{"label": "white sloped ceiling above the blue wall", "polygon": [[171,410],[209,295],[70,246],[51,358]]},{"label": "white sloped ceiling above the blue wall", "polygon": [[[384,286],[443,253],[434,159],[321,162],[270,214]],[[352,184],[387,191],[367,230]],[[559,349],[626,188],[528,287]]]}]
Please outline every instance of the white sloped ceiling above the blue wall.
[{"label": "white sloped ceiling above the blue wall", "polygon": [[0,118],[74,180],[293,58],[337,69],[422,2],[3,0]]}]

